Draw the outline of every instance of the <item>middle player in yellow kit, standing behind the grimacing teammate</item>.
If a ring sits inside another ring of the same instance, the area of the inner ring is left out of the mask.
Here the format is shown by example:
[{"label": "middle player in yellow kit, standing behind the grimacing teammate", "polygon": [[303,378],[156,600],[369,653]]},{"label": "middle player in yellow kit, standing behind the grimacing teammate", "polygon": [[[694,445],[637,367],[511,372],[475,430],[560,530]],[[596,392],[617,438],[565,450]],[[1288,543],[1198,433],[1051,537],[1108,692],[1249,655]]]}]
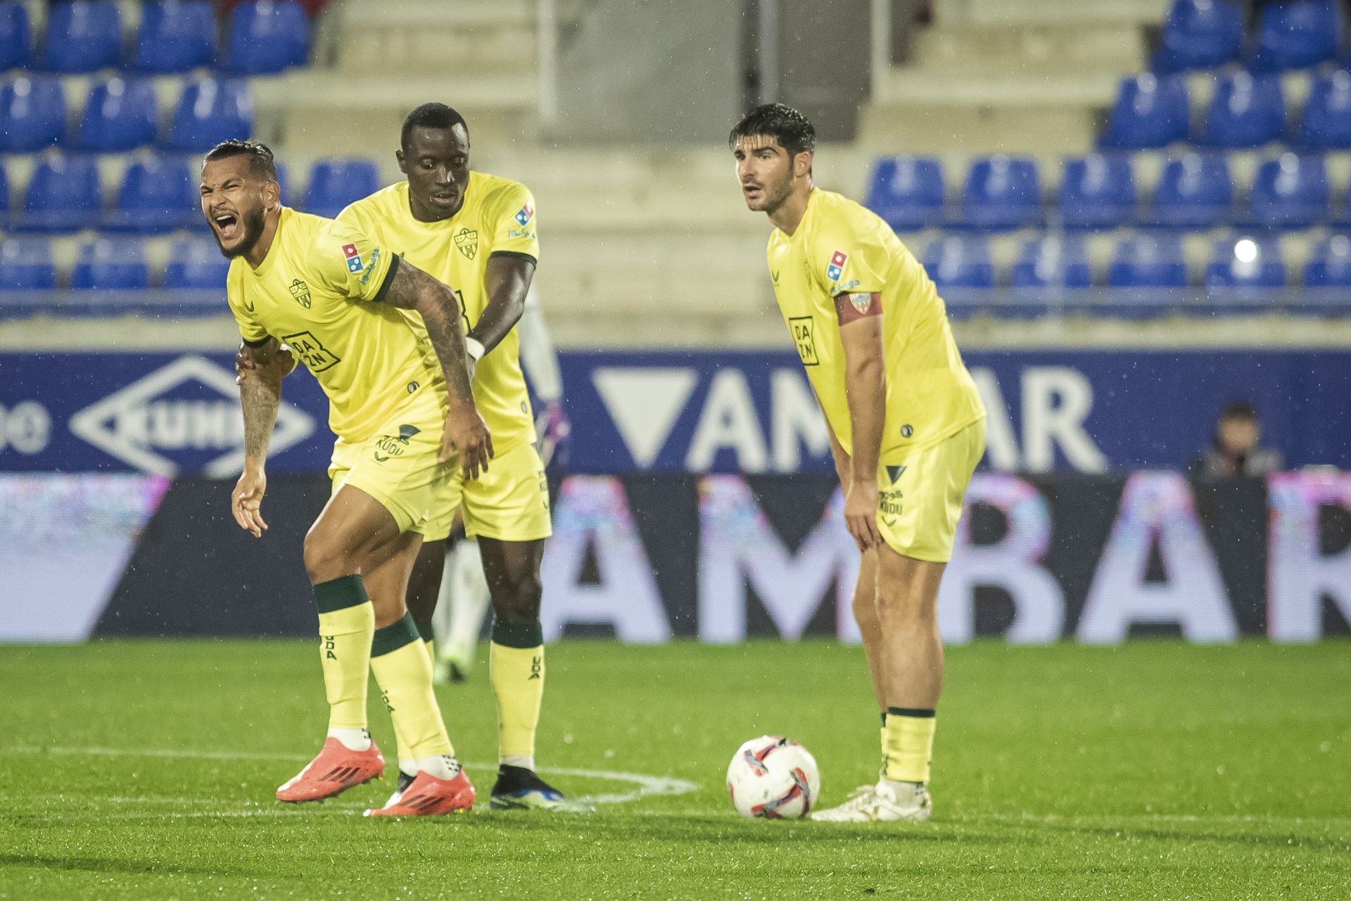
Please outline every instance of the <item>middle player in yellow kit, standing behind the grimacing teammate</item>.
[{"label": "middle player in yellow kit, standing behind the grimacing teammate", "polygon": [[[478,539],[493,604],[488,669],[497,697],[499,771],[492,806],[589,810],[535,773],[544,689],[539,566],[553,527],[516,330],[539,259],[535,199],[517,181],[470,172],[469,126],[444,104],[423,104],[408,115],[396,157],[407,181],[358,200],[338,220],[458,288],[474,398],[496,450],[488,473],[455,480],[442,493],[423,528],[408,605],[430,642],[446,539],[459,508],[465,534]],[[407,316],[422,328],[416,312]],[[415,774],[412,765],[400,748],[401,786]]]}]

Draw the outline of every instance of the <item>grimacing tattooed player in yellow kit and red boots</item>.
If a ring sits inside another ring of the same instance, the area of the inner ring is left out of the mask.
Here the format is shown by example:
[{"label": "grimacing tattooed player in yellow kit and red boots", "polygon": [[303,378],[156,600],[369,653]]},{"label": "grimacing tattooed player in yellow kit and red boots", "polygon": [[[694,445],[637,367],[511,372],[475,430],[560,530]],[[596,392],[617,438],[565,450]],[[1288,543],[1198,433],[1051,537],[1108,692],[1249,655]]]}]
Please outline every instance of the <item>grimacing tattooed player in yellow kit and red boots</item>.
[{"label": "grimacing tattooed player in yellow kit and red boots", "polygon": [[[281,380],[304,362],[330,400],[338,436],[334,493],[305,535],[304,565],[319,609],[330,704],[319,755],[277,789],[320,801],[384,773],[366,729],[367,667],[416,778],[367,816],[467,809],[474,788],[454,756],[431,685],[431,661],[404,605],[408,575],[435,500],[463,470],[488,466],[492,439],[474,407],[454,292],[388,244],[343,223],[281,205],[272,151],[227,140],[201,168],[201,209],[231,259],[230,309],[254,369],[239,382],[245,470],[235,520],[261,538],[263,462]],[[426,323],[419,335],[404,311]],[[453,455],[459,457],[455,466]]]}]

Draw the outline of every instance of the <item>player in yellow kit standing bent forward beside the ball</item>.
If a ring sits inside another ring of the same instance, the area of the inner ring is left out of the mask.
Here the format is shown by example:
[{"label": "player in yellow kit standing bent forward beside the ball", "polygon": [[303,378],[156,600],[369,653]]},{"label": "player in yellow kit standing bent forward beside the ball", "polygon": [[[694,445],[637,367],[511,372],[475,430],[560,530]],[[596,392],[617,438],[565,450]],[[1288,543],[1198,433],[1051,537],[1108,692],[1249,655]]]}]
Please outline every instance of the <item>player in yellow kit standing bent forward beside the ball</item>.
[{"label": "player in yellow kit standing bent forward beside the ball", "polygon": [[882,712],[877,783],[812,819],[927,820],[943,682],[938,588],[985,453],[985,407],[924,267],[878,216],[812,185],[807,118],[757,107],[730,145],[746,205],[775,227],[774,294],[830,424],[862,552],[854,616]]}]

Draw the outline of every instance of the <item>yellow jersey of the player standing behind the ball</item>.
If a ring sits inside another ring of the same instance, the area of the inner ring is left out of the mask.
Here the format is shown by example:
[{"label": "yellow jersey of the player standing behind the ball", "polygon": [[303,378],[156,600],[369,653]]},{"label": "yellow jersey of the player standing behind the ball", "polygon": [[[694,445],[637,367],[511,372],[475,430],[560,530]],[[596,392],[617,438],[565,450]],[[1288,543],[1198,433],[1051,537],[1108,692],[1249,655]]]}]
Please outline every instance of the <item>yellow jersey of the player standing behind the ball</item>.
[{"label": "yellow jersey of the player standing behind the ball", "polygon": [[848,454],[854,453],[852,428],[835,309],[842,293],[882,297],[886,426],[881,459],[936,444],[985,416],[934,282],[875,213],[813,189],[797,231],[788,235],[775,228],[770,236],[769,272],[797,354]]}]

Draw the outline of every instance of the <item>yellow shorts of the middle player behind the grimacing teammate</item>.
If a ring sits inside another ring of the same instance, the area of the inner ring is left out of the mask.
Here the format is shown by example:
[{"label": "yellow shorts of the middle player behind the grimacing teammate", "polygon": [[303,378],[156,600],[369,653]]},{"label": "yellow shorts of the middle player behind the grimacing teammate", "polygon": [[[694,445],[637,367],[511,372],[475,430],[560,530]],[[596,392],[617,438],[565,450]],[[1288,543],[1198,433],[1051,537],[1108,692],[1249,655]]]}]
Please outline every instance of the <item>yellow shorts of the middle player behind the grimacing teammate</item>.
[{"label": "yellow shorts of the middle player behind the grimacing teammate", "polygon": [[523,440],[499,453],[488,463],[488,471],[471,482],[463,481],[457,467],[451,484],[438,494],[426,527],[416,531],[427,542],[446,538],[457,509],[463,515],[469,538],[534,542],[553,535],[549,480],[535,446]]}]

